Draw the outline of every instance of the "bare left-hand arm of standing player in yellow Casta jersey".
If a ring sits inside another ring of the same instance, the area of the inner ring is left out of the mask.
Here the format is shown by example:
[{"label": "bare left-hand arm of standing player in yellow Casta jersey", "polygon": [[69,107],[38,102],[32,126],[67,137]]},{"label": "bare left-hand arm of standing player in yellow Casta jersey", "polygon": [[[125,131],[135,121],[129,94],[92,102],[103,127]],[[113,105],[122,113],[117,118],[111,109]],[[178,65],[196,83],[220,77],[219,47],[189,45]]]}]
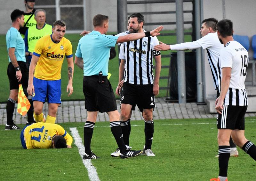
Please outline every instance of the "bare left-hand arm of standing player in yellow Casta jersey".
[{"label": "bare left-hand arm of standing player in yellow Casta jersey", "polygon": [[33,85],[33,78],[35,73],[36,64],[39,60],[39,57],[36,55],[32,55],[29,71],[28,71],[28,89],[27,92],[29,95],[33,96],[33,93],[35,92],[34,85]]}]

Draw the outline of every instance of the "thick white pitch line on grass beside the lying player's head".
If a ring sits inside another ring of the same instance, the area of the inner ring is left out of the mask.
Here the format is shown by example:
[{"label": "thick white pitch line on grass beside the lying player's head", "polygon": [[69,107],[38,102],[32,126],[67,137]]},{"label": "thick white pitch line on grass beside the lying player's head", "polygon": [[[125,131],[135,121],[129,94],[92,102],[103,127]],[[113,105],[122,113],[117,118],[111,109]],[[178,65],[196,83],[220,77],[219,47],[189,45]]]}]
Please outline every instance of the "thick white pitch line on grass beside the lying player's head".
[{"label": "thick white pitch line on grass beside the lying player's head", "polygon": [[[84,145],[82,142],[82,139],[80,135],[78,134],[78,131],[76,127],[70,127],[71,134],[73,135],[73,138],[75,140],[75,145],[78,148],[79,154],[81,158],[83,159],[84,155]],[[88,170],[88,176],[91,181],[100,181],[100,178],[98,176],[98,173],[96,171],[96,168],[92,165],[92,162],[90,159],[83,160],[85,168]]]}]

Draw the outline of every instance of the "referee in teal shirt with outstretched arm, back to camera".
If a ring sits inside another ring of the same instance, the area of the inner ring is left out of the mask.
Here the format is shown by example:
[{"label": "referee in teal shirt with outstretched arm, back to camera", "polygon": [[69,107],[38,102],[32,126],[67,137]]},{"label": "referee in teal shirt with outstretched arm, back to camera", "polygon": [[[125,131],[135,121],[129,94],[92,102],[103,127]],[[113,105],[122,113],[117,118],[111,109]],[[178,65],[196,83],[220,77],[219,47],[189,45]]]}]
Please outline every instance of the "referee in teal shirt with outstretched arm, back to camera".
[{"label": "referee in teal shirt with outstretched arm, back to camera", "polygon": [[157,27],[151,32],[131,33],[125,36],[115,37],[106,35],[108,31],[108,16],[98,14],[93,18],[94,31],[79,40],[75,64],[84,69],[83,91],[87,120],[84,125],[83,159],[96,159],[91,151],[91,140],[94,125],[99,112],[107,112],[109,116],[111,132],[120,149],[121,158],[130,158],[139,155],[142,151],[127,150],[120,126],[120,115],[116,107],[116,98],[108,81],[108,60],[110,48],[117,43],[138,40],[145,36],[159,35],[163,26]]}]

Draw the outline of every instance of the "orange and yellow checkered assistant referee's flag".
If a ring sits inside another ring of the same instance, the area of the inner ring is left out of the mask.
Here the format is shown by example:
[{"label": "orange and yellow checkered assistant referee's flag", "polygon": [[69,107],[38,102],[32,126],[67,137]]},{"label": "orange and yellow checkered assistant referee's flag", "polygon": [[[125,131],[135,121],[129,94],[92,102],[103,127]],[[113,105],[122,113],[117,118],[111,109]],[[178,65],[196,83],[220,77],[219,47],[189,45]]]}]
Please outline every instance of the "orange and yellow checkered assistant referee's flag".
[{"label": "orange and yellow checkered assistant referee's flag", "polygon": [[23,88],[20,84],[17,112],[19,112],[22,116],[25,116],[29,108],[30,108],[30,103],[28,101],[28,98],[25,96]]}]

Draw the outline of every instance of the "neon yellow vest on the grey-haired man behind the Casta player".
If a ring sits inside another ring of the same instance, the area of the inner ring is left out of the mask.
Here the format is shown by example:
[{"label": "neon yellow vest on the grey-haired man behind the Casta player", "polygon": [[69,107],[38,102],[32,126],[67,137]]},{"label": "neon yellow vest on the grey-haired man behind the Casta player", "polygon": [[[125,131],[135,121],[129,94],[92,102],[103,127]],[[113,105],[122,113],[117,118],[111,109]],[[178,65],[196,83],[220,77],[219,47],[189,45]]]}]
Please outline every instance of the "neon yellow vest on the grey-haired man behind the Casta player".
[{"label": "neon yellow vest on the grey-haired man behind the Casta player", "polygon": [[46,23],[42,29],[37,29],[36,26],[28,28],[28,51],[34,52],[37,40],[50,34],[52,34],[52,26]]}]

